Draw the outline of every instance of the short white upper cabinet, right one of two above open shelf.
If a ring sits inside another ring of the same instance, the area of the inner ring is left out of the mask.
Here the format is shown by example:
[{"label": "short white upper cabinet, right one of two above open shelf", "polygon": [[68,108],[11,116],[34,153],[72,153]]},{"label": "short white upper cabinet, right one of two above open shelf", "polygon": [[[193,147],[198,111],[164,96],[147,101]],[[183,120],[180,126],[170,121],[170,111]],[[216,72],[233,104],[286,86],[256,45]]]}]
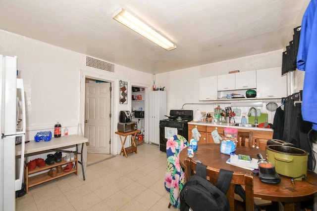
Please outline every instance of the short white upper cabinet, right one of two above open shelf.
[{"label": "short white upper cabinet, right one of two above open shelf", "polygon": [[257,71],[246,71],[235,73],[235,89],[252,89],[257,88]]}]

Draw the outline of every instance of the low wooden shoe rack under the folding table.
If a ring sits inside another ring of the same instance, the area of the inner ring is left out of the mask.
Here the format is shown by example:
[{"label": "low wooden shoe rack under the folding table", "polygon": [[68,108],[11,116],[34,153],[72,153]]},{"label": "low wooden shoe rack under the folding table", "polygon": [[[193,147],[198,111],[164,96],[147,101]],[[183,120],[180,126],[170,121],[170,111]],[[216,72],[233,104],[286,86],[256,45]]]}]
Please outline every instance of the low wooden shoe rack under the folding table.
[{"label": "low wooden shoe rack under the folding table", "polygon": [[[62,169],[64,170],[65,165],[70,164],[70,163],[75,163],[74,167],[72,169],[70,169],[70,171],[62,171],[60,173],[57,172],[57,175],[54,177],[51,177],[50,175],[48,175],[48,172],[45,170],[50,170],[54,167],[58,167],[58,166],[64,166],[62,167]],[[26,163],[24,163],[24,168],[25,168],[25,175],[24,175],[24,180],[25,180],[25,186],[26,186],[26,193],[29,192],[29,188],[42,184],[44,182],[48,182],[51,181],[53,179],[57,179],[59,177],[71,174],[71,173],[75,173],[77,175],[77,167],[78,167],[78,158],[77,155],[75,154],[75,160],[72,161],[64,161],[64,157],[61,158],[61,162],[60,163],[56,163],[53,165],[45,165],[45,167],[39,168],[38,166],[33,169],[33,170],[29,170],[28,166],[26,165]],[[39,173],[45,171],[43,173],[37,174],[32,176],[32,174],[35,173]]]}]

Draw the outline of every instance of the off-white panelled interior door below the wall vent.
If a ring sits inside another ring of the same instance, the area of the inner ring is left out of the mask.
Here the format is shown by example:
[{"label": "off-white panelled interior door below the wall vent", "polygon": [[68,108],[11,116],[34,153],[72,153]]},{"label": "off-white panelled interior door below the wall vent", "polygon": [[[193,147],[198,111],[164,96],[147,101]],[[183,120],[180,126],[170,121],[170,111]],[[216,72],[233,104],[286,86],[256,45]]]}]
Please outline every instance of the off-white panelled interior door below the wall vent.
[{"label": "off-white panelled interior door below the wall vent", "polygon": [[87,83],[85,136],[88,153],[110,154],[110,83]]}]

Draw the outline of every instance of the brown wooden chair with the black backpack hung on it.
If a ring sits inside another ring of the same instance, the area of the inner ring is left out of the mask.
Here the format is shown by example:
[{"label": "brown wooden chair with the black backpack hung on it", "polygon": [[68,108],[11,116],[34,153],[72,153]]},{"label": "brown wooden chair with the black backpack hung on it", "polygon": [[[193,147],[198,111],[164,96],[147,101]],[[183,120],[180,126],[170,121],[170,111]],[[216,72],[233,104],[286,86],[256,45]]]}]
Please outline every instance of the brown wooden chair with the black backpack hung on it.
[{"label": "brown wooden chair with the black backpack hung on it", "polygon": [[[187,179],[196,174],[196,165],[197,163],[193,159],[186,158],[185,159],[185,179]],[[207,179],[215,185],[218,179],[219,169],[213,169],[211,167],[207,167]],[[235,185],[243,185],[245,186],[246,191],[246,202],[245,202],[245,210],[246,211],[254,211],[254,195],[253,195],[253,175],[249,173],[233,173],[231,184],[229,190],[226,194],[229,204],[230,211],[235,210],[235,200],[234,200],[234,187]],[[237,210],[237,209],[236,209]]]}]

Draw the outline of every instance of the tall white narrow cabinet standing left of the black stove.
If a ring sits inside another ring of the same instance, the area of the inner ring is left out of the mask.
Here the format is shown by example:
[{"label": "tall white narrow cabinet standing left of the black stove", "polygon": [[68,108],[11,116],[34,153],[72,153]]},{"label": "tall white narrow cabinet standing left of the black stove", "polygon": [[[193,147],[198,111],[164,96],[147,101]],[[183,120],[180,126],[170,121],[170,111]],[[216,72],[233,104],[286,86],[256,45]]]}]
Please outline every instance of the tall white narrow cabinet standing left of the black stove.
[{"label": "tall white narrow cabinet standing left of the black stove", "polygon": [[159,144],[159,120],[166,119],[166,91],[149,92],[149,141]]}]

